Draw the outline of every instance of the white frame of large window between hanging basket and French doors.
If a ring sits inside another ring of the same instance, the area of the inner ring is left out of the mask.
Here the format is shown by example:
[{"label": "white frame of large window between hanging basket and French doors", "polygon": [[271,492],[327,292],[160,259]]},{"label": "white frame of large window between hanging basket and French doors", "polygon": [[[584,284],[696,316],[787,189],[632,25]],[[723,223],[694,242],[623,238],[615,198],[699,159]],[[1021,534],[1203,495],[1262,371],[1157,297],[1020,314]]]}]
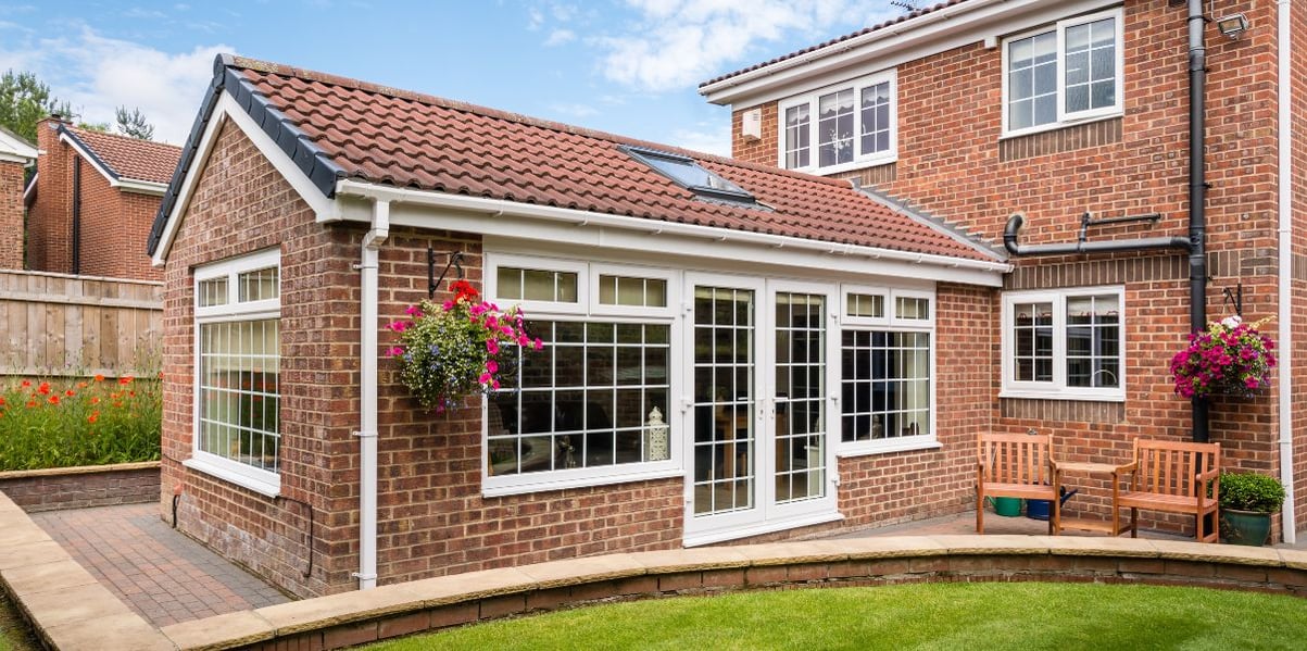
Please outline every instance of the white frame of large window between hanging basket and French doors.
[{"label": "white frame of large window between hanging basket and French doors", "polygon": [[[546,302],[546,301],[518,301],[506,299],[498,295],[499,267],[520,267],[528,269],[549,271],[576,271],[578,302]],[[485,295],[488,301],[498,303],[501,307],[514,305],[521,306],[527,320],[552,320],[572,323],[644,323],[668,326],[668,404],[663,410],[663,420],[670,427],[669,447],[670,455],[659,461],[638,461],[627,464],[603,465],[592,468],[567,468],[554,471],[541,471],[521,475],[493,476],[488,472],[490,455],[489,446],[489,409],[491,400],[481,401],[481,492],[485,497],[515,495],[545,490],[562,490],[571,488],[601,486],[609,484],[622,484],[630,481],[646,481],[655,478],[682,477],[685,475],[682,461],[682,433],[685,431],[685,413],[681,404],[684,395],[681,374],[684,373],[685,350],[681,335],[681,303],[678,273],[672,269],[654,267],[637,267],[606,263],[583,263],[574,259],[529,256],[518,254],[485,254]],[[639,307],[639,306],[612,306],[599,303],[599,276],[629,276],[642,278],[667,280],[667,307]]]}]

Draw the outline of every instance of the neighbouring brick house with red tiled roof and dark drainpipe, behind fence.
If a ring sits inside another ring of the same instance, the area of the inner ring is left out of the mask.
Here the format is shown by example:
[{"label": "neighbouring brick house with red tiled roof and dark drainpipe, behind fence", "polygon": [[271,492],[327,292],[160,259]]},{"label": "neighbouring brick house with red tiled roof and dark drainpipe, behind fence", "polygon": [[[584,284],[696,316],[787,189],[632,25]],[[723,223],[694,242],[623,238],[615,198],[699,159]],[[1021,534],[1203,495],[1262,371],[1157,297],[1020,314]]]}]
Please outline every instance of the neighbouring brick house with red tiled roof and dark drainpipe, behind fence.
[{"label": "neighbouring brick house with red tiled roof and dark drainpipe, behind fence", "polygon": [[26,268],[161,280],[145,242],[180,148],[77,128],[58,115],[38,123],[37,145],[37,175],[22,195]]}]

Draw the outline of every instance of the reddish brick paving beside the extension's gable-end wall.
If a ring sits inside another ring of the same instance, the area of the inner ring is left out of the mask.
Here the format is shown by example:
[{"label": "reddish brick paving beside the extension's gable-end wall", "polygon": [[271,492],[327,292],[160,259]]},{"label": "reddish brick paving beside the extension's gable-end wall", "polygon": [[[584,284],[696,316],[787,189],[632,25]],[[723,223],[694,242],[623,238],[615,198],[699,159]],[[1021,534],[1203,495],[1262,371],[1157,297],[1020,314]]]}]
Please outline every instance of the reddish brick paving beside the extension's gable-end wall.
[{"label": "reddish brick paving beside the extension's gable-end wall", "polygon": [[30,516],[156,626],[290,601],[254,574],[174,531],[159,519],[154,503]]}]

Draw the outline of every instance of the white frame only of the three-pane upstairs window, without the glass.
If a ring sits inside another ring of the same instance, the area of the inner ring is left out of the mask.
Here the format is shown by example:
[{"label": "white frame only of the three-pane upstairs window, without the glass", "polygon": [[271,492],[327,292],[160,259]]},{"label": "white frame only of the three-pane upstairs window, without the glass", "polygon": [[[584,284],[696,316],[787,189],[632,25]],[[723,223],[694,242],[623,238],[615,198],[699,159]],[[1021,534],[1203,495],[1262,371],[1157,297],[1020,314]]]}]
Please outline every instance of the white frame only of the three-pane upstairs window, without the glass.
[{"label": "white frame only of the three-pane upstairs window, without the glass", "polygon": [[[885,152],[874,152],[870,154],[860,153],[861,148],[861,125],[863,125],[863,111],[861,111],[861,93],[863,89],[870,88],[878,84],[889,84],[889,149]],[[822,167],[819,165],[819,140],[818,140],[818,123],[821,120],[819,103],[822,95],[829,95],[831,93],[839,93],[842,90],[853,92],[853,159],[844,163],[835,163]],[[786,110],[795,106],[808,105],[808,146],[809,146],[809,165],[802,167],[786,167]],[[863,167],[872,167],[877,165],[886,165],[898,161],[898,71],[890,68],[887,71],[876,72],[859,77],[852,81],[842,81],[839,84],[831,84],[823,86],[802,95],[795,95],[787,99],[782,99],[776,103],[776,167],[793,171],[805,171],[810,174],[835,174],[840,171],[857,170]]]}]

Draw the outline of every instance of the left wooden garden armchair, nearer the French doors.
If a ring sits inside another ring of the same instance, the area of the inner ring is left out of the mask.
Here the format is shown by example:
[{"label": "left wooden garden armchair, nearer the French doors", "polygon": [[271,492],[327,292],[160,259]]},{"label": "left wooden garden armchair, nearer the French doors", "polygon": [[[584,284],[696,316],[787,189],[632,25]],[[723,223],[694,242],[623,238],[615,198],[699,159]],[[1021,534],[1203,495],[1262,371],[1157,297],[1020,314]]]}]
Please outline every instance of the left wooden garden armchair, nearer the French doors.
[{"label": "left wooden garden armchair, nearer the French doors", "polygon": [[976,533],[984,533],[984,498],[1048,499],[1048,533],[1061,523],[1061,473],[1047,434],[980,434],[976,439]]}]

